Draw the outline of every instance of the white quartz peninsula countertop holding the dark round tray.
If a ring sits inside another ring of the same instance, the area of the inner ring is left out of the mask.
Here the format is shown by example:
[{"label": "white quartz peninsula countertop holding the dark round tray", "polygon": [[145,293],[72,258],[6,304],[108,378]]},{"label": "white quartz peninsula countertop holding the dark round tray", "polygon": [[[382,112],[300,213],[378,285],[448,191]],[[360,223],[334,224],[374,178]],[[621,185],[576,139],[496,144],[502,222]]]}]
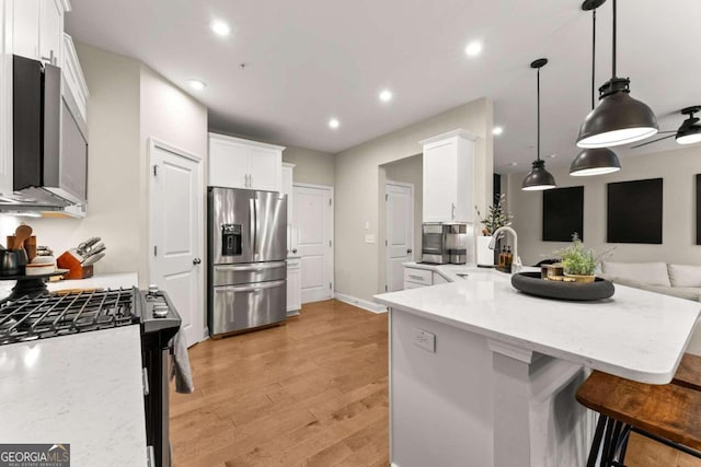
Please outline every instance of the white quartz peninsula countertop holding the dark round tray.
[{"label": "white quartz peninsula countertop holding the dark round tray", "polygon": [[376,302],[643,383],[671,381],[700,312],[699,303],[618,284],[611,299],[566,302],[524,294],[510,275],[490,269],[405,266],[453,283],[383,293]]}]

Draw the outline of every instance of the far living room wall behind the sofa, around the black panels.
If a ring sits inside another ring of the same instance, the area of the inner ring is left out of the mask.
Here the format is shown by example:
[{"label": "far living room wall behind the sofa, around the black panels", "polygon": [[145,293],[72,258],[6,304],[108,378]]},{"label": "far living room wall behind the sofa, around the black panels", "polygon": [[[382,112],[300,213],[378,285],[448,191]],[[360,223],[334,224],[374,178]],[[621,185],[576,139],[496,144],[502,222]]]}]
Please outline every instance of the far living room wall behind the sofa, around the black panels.
[{"label": "far living room wall behind the sofa, around the black panels", "polygon": [[[621,157],[622,170],[611,175],[571,177],[567,167],[549,171],[560,187],[584,185],[584,243],[605,252],[616,246],[612,261],[666,261],[701,264],[696,243],[696,174],[701,173],[701,148]],[[541,242],[542,192],[522,191],[526,174],[508,178],[508,205],[518,232],[518,252],[525,265],[533,265],[563,243]],[[663,244],[606,243],[606,184],[664,178]]]}]

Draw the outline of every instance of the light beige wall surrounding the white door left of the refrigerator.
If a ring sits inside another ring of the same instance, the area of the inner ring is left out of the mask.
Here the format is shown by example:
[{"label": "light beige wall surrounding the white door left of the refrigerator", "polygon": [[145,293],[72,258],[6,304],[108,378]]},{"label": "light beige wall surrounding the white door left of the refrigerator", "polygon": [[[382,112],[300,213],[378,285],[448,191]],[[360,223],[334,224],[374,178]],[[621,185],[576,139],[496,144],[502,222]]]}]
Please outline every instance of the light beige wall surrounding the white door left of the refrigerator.
[{"label": "light beige wall surrounding the white door left of the refrigerator", "polygon": [[[206,164],[207,110],[137,60],[84,44],[77,44],[77,51],[90,90],[88,217],[27,223],[35,227],[37,243],[57,255],[87,237],[102,237],[107,250],[95,272],[137,271],[146,287],[148,138],[195,153]],[[203,191],[203,208],[204,199]]]}]

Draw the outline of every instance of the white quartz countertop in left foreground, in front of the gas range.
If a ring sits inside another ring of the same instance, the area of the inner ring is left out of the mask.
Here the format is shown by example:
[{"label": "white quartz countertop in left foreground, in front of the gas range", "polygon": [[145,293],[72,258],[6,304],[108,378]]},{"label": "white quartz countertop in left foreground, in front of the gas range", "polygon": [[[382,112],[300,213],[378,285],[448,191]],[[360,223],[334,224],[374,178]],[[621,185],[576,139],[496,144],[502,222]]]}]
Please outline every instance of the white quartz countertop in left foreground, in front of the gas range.
[{"label": "white quartz countertop in left foreground, in front of the gas range", "polygon": [[146,466],[139,326],[0,346],[0,442],[68,443],[73,467]]}]

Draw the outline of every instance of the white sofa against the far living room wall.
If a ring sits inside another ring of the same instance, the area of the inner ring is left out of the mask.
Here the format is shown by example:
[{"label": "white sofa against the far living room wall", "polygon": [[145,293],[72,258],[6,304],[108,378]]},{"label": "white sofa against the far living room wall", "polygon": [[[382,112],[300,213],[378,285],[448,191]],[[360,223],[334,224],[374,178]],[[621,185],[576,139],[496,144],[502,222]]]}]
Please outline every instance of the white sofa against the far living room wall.
[{"label": "white sofa against the far living room wall", "polygon": [[[621,285],[701,302],[701,266],[604,261],[597,276]],[[701,325],[697,325],[687,352],[701,355]]]}]

